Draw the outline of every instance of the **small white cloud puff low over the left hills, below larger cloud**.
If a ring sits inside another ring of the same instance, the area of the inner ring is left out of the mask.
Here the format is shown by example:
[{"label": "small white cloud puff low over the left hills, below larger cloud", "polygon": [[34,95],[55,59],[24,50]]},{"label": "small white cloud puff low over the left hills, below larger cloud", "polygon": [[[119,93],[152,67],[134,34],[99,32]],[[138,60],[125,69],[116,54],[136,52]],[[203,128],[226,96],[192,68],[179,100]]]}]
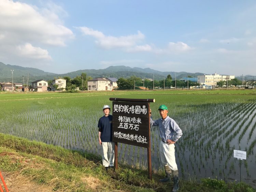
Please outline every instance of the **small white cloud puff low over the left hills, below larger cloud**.
[{"label": "small white cloud puff low over the left hills, below larger cloud", "polygon": [[47,50],[42,49],[40,47],[33,47],[30,43],[26,43],[25,45],[18,45],[16,47],[17,54],[21,57],[31,58],[31,59],[46,59],[52,60],[51,56]]}]

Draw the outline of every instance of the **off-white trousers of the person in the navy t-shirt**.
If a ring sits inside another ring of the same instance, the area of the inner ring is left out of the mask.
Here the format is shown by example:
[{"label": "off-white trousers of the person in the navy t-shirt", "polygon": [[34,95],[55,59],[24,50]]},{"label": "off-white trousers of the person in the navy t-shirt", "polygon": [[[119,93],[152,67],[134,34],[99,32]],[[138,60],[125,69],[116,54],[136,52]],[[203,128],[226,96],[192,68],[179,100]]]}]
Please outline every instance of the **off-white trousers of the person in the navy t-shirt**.
[{"label": "off-white trousers of the person in the navy t-shirt", "polygon": [[[102,146],[102,164],[104,167],[114,166],[114,142],[101,142]],[[109,151],[109,158],[108,158]]]}]

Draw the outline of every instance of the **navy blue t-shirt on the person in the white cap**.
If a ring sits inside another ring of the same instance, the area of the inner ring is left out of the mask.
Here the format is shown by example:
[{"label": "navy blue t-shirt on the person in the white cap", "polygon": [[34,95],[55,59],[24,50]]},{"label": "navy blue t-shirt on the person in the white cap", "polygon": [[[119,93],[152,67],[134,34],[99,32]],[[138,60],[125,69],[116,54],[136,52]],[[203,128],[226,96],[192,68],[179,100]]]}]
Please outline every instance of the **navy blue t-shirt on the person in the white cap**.
[{"label": "navy blue t-shirt on the person in the white cap", "polygon": [[100,139],[102,142],[112,142],[112,115],[101,117],[98,123],[101,132]]}]

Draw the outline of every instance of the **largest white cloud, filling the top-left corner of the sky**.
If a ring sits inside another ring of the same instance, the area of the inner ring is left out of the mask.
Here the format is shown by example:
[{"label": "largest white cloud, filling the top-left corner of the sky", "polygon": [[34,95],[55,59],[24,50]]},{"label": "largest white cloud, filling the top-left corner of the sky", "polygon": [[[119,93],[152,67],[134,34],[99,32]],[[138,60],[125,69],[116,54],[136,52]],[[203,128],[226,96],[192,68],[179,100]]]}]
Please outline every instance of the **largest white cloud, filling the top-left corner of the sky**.
[{"label": "largest white cloud, filling the top-left corner of the sky", "polygon": [[1,33],[6,40],[12,39],[12,43],[36,41],[65,46],[65,41],[74,38],[73,32],[61,25],[58,16],[46,8],[41,13],[39,8],[26,3],[0,0],[0,10]]}]

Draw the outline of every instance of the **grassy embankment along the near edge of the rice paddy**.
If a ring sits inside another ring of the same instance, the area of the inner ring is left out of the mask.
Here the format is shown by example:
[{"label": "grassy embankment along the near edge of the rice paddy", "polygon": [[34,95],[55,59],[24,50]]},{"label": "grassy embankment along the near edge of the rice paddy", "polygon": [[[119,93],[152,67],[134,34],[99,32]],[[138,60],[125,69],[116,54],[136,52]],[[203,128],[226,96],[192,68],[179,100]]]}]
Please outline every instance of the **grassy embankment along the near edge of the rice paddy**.
[{"label": "grassy embankment along the near edge of the rice paddy", "polygon": [[[147,179],[147,170],[119,165],[105,171],[100,158],[58,146],[0,134],[0,170],[11,191],[170,191],[158,182],[163,172]],[[180,191],[255,191],[245,183],[217,179],[182,180]]]}]

